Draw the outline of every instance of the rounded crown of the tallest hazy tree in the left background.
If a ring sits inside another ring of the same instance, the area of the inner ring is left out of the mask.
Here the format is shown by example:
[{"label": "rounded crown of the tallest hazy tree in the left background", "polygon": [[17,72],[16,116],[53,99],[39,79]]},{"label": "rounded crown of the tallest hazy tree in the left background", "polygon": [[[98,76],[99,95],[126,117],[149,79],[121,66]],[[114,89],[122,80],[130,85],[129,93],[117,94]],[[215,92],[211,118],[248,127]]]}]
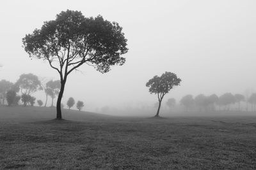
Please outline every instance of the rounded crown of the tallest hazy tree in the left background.
[{"label": "rounded crown of the tallest hazy tree in the left background", "polygon": [[30,95],[37,90],[42,90],[41,82],[38,80],[38,77],[32,73],[21,74],[15,85],[19,87],[21,94],[26,95]]}]

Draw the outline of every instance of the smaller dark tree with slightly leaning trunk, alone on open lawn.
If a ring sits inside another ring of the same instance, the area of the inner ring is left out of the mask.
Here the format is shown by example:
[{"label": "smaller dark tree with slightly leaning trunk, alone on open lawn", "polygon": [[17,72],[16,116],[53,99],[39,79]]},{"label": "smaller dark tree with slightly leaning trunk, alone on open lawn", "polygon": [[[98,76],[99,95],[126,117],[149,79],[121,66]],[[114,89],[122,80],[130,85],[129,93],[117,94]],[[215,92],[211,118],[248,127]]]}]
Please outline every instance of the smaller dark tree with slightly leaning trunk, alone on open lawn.
[{"label": "smaller dark tree with slightly leaning trunk, alone on open lawn", "polygon": [[146,83],[149,87],[150,94],[157,94],[158,98],[158,108],[155,117],[159,117],[159,110],[161,108],[161,103],[163,97],[173,89],[174,86],[180,85],[180,78],[177,78],[175,73],[165,72],[161,76],[154,76]]}]

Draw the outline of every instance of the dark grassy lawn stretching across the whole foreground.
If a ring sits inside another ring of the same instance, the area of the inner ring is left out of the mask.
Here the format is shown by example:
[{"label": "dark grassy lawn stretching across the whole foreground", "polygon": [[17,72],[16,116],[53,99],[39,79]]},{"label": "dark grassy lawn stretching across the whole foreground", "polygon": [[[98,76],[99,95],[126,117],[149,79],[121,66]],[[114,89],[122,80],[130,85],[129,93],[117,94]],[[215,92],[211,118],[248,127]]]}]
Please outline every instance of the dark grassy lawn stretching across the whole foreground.
[{"label": "dark grassy lawn stretching across the whole foreground", "polygon": [[54,117],[0,106],[0,169],[256,169],[256,117]]}]

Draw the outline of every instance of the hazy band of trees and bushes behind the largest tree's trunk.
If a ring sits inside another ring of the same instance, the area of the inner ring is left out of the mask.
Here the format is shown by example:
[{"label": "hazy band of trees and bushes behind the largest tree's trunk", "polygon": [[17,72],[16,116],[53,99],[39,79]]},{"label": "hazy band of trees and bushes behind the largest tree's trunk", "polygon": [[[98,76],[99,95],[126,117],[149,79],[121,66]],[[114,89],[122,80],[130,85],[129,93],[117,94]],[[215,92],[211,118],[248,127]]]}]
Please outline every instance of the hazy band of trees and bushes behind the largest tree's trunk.
[{"label": "hazy band of trees and bushes behind the largest tree's trunk", "polygon": [[[12,83],[8,80],[0,81],[0,101],[1,104],[8,106],[19,105],[19,101],[23,106],[34,106],[36,97],[32,96],[36,91],[42,90],[45,93],[45,107],[48,96],[51,97],[51,107],[54,107],[54,98],[60,92],[60,80],[49,80],[47,82],[40,81],[38,76],[32,73],[21,74],[19,79]],[[71,101],[71,102],[70,102]],[[43,106],[42,100],[37,100],[38,106]],[[70,109],[74,106],[74,98],[70,97],[67,101],[67,107]],[[77,109],[80,111],[84,106],[83,101],[77,101]],[[61,103],[61,108],[64,104]]]}]

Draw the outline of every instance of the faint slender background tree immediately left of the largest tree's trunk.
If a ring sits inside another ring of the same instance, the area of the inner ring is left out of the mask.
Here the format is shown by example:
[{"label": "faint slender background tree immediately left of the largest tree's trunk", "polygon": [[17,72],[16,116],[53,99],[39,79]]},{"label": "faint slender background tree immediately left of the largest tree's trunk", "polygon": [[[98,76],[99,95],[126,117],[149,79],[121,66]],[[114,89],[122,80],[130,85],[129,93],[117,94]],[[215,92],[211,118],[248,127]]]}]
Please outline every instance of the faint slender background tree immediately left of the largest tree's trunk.
[{"label": "faint slender background tree immediately left of the largest tree's trunk", "polygon": [[55,81],[48,81],[46,83],[46,93],[52,97],[52,106],[53,106],[53,99],[59,94],[60,92],[60,80]]}]

